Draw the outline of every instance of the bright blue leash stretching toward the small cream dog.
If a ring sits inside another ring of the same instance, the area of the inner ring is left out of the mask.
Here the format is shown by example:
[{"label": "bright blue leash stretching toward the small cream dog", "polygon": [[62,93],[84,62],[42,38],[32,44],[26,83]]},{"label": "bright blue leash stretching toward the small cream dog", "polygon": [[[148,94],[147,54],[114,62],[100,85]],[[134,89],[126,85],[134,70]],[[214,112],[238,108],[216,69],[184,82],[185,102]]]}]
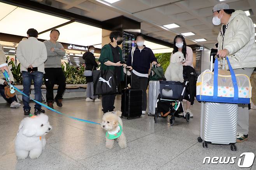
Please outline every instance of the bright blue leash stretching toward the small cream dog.
[{"label": "bright blue leash stretching toward the small cream dog", "polygon": [[9,75],[8,75],[7,71],[4,72],[4,76],[5,76],[5,80],[8,82],[8,84],[9,84],[11,87],[13,87],[15,90],[17,90],[17,92],[19,92],[19,93],[25,95],[26,97],[30,98],[32,101],[36,102],[37,104],[40,104],[41,106],[43,106],[43,107],[45,107],[45,108],[47,108],[47,109],[49,109],[49,110],[51,110],[51,111],[54,111],[54,112],[56,112],[56,113],[58,113],[58,114],[61,114],[61,115],[63,115],[63,116],[66,116],[66,117],[68,117],[68,118],[71,118],[71,119],[74,119],[74,120],[78,120],[78,121],[83,121],[83,122],[86,122],[86,123],[92,123],[92,124],[100,125],[100,123],[96,123],[96,122],[93,122],[93,121],[84,120],[84,119],[80,119],[80,118],[75,118],[75,117],[73,117],[73,116],[68,116],[67,114],[61,113],[61,112],[59,112],[59,111],[57,111],[57,110],[55,110],[55,109],[53,109],[53,108],[50,108],[49,106],[46,106],[45,104],[42,104],[42,103],[39,102],[39,101],[36,101],[36,100],[32,99],[31,97],[29,97],[28,95],[26,95],[25,93],[23,93],[21,90],[19,90],[17,87],[11,85],[11,83],[9,82],[9,81],[10,81],[10,78],[9,78]]}]

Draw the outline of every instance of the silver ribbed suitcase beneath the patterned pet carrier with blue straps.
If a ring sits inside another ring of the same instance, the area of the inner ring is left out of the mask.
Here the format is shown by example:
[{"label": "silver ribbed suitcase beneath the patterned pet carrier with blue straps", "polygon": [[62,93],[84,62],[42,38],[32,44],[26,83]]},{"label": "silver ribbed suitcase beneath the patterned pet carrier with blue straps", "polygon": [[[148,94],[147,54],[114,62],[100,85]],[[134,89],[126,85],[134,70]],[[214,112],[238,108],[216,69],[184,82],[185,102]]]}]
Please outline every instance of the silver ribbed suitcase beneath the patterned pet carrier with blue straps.
[{"label": "silver ribbed suitcase beneath the patterned pet carrier with blue straps", "polygon": [[212,144],[234,144],[237,117],[237,104],[202,102],[200,137]]}]

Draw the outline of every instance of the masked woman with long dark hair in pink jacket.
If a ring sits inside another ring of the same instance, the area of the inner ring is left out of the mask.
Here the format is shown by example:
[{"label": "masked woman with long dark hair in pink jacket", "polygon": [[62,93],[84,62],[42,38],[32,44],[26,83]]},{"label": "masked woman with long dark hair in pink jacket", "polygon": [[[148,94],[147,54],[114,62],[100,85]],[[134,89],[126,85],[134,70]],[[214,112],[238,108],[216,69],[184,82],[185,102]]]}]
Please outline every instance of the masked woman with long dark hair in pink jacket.
[{"label": "masked woman with long dark hair in pink jacket", "polygon": [[[174,50],[172,53],[175,53],[175,52],[182,52],[185,59],[186,59],[186,62],[183,63],[183,66],[191,66],[194,68],[193,66],[193,50],[188,47],[186,45],[186,41],[185,41],[185,38],[184,36],[182,35],[176,35],[175,38],[174,38]],[[191,103],[189,101],[186,101],[186,113],[189,112],[190,114],[190,117],[193,117],[193,113],[191,112]],[[183,115],[183,113],[181,113]]]}]

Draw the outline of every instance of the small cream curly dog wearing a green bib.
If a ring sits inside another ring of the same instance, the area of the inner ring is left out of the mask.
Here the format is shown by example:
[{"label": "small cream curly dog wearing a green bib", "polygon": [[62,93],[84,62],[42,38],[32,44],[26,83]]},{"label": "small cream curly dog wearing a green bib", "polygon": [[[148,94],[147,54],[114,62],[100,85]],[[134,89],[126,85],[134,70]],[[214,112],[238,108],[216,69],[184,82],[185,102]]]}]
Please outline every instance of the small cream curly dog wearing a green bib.
[{"label": "small cream curly dog wearing a green bib", "polygon": [[103,115],[102,128],[106,132],[106,147],[111,149],[114,145],[114,140],[117,139],[121,148],[126,148],[126,137],[124,135],[123,121],[120,118],[121,111],[108,112]]}]

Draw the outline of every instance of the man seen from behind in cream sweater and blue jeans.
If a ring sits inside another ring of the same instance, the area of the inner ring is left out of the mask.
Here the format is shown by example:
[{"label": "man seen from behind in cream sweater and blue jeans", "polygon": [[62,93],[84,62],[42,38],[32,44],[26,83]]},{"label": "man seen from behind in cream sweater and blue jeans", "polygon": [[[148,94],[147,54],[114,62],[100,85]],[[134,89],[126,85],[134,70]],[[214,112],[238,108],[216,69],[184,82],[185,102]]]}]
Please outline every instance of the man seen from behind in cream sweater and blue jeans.
[{"label": "man seen from behind in cream sweater and blue jeans", "polygon": [[[21,63],[23,93],[30,95],[30,86],[33,80],[35,89],[35,100],[42,101],[41,86],[44,76],[44,62],[47,59],[46,46],[43,42],[37,40],[37,30],[30,28],[27,31],[28,40],[22,40],[16,50],[16,57]],[[25,115],[30,114],[30,99],[25,95],[22,96],[24,104],[23,110]],[[35,104],[35,115],[44,113],[40,104]]]}]

